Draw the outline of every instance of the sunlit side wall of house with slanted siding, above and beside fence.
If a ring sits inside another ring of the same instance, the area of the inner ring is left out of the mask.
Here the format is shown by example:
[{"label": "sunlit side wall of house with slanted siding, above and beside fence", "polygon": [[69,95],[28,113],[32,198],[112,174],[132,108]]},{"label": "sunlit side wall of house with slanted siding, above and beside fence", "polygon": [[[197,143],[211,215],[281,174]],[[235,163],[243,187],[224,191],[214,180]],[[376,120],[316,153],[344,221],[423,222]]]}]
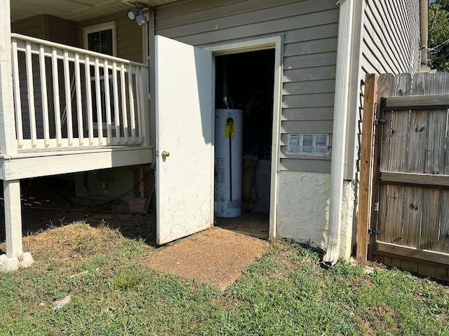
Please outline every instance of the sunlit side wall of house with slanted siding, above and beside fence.
[{"label": "sunlit side wall of house with slanted siding, above and beside fence", "polygon": [[[363,0],[356,6],[361,21],[354,29],[360,31],[354,41],[360,45],[354,62],[354,83],[365,79],[366,73],[417,73],[420,71],[420,1]],[[357,62],[358,61],[358,62]],[[357,158],[358,109],[361,106],[357,88],[352,92],[351,116],[347,139],[347,179],[354,179]]]}]

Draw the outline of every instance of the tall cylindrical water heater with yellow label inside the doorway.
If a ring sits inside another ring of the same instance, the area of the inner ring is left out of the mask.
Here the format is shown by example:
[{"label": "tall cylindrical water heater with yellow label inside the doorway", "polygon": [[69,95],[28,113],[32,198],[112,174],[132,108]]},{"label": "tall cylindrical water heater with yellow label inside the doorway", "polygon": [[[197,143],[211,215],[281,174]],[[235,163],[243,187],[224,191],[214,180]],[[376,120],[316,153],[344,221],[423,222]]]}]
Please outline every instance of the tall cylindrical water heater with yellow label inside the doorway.
[{"label": "tall cylindrical water heater with yellow label inside the doorway", "polygon": [[215,196],[217,217],[241,215],[243,110],[215,110]]}]

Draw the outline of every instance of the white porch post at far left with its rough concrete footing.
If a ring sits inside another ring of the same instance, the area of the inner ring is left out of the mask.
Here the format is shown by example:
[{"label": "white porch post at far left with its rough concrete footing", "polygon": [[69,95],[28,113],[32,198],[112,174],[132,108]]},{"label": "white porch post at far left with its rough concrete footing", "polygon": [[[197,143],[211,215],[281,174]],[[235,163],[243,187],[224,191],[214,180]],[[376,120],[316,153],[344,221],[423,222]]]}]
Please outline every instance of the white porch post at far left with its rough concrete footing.
[{"label": "white porch post at far left with its rough concrete footing", "polygon": [[[4,159],[17,153],[15,134],[13,66],[11,58],[10,1],[0,0],[0,151]],[[4,172],[4,167],[1,167]],[[4,176],[1,176],[4,179]],[[4,181],[6,255],[0,255],[0,270],[12,271],[32,264],[32,256],[22,250],[20,181]]]}]

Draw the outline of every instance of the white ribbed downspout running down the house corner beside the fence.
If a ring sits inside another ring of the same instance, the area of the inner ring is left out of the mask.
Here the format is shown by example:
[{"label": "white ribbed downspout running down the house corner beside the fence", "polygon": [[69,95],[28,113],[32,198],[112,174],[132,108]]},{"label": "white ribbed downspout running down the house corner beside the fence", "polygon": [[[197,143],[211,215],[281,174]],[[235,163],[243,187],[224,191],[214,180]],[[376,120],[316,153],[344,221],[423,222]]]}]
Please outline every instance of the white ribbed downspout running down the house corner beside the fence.
[{"label": "white ribbed downspout running down the house corner beside the fence", "polygon": [[338,23],[337,71],[335,73],[335,99],[333,120],[332,161],[330,168],[330,208],[328,248],[323,264],[330,267],[340,256],[342,228],[342,197],[346,148],[347,115],[353,38],[354,1],[340,0]]}]

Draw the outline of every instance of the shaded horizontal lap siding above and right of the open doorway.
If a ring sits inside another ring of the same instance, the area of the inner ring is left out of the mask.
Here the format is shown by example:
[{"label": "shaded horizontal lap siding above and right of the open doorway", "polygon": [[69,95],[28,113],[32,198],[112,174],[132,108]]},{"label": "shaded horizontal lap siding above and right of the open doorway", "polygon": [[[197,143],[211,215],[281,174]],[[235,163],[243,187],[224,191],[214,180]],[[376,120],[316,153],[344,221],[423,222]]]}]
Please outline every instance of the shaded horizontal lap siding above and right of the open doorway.
[{"label": "shaded horizontal lap siding above and right of the open doorway", "polygon": [[282,35],[280,169],[330,172],[330,155],[291,157],[285,145],[288,133],[332,132],[338,10],[335,0],[184,1],[157,7],[155,27],[199,47]]}]

